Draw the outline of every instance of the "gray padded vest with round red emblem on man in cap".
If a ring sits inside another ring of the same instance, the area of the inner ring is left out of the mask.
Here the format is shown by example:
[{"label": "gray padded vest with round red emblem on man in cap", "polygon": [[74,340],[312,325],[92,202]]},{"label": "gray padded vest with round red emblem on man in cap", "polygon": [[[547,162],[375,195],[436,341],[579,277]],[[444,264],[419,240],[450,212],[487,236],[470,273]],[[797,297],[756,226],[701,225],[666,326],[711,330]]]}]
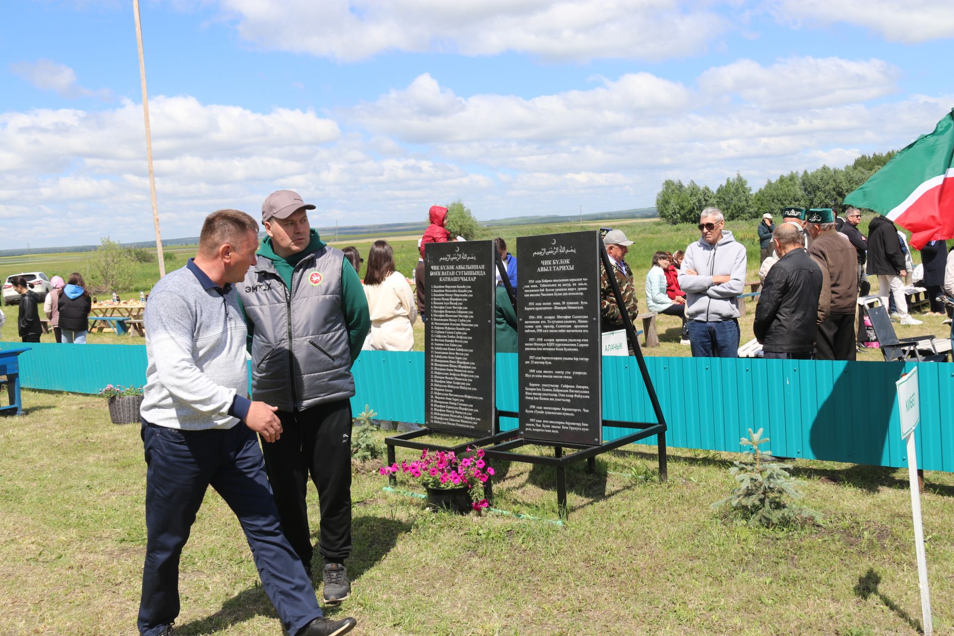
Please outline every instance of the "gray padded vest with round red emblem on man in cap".
[{"label": "gray padded vest with round red emblem on man in cap", "polygon": [[280,411],[301,411],[355,394],[342,311],[341,250],[324,246],[301,259],[291,289],[259,256],[239,283],[252,335],[252,396]]}]

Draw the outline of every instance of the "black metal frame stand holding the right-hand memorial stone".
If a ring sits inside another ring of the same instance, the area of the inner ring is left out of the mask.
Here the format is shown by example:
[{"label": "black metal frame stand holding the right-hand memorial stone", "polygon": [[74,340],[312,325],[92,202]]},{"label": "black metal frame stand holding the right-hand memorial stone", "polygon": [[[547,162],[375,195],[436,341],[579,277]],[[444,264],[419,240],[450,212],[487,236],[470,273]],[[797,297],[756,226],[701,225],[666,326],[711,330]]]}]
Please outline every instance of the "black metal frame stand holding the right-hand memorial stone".
[{"label": "black metal frame stand holding the right-hand memorial stone", "polygon": [[[519,438],[517,440],[506,441],[484,450],[485,458],[489,457],[494,460],[536,463],[556,467],[556,503],[561,519],[566,519],[568,517],[566,470],[567,466],[572,463],[586,460],[588,471],[593,472],[596,468],[597,455],[615,448],[619,448],[625,444],[633,443],[633,441],[639,441],[655,435],[656,448],[659,458],[659,479],[661,481],[666,481],[669,472],[666,455],[666,419],[662,414],[662,408],[659,406],[659,400],[656,397],[655,389],[653,388],[653,380],[650,379],[649,370],[646,368],[646,360],[643,359],[643,352],[639,348],[639,341],[636,339],[636,330],[633,327],[633,320],[630,319],[629,312],[625,310],[626,303],[623,302],[623,294],[619,289],[619,284],[616,282],[616,277],[612,276],[612,263],[610,262],[610,256],[607,255],[606,247],[603,245],[602,241],[599,243],[599,251],[600,259],[603,261],[603,267],[606,268],[607,273],[610,275],[607,278],[610,281],[612,295],[616,298],[617,305],[623,308],[623,311],[620,312],[623,316],[623,326],[626,329],[626,336],[630,340],[630,344],[633,345],[633,353],[635,354],[636,363],[639,365],[639,371],[642,374],[643,383],[646,385],[646,391],[649,394],[650,401],[653,403],[653,412],[656,416],[656,423],[642,421],[604,420],[604,426],[614,426],[616,428],[638,428],[640,430],[636,433],[631,433],[621,437],[618,440],[604,441],[603,443],[595,446],[569,443],[566,441],[541,441]],[[553,457],[524,455],[522,453],[513,452],[517,448],[526,445],[552,446]],[[579,450],[577,450],[575,453],[571,453],[570,455],[564,455],[564,448],[578,448]]]}]

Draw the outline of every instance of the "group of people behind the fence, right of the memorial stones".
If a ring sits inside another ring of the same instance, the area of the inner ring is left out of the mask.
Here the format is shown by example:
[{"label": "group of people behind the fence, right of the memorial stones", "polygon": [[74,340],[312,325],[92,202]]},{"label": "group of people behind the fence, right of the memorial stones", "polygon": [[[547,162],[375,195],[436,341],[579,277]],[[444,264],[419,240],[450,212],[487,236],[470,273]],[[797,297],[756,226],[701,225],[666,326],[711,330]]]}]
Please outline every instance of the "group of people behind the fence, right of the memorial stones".
[{"label": "group of people behind the fence, right of the memorial stones", "polygon": [[[858,298],[870,292],[869,276],[879,278],[881,304],[904,325],[921,324],[907,311],[905,289],[911,282],[926,288],[928,316],[943,316],[944,296],[954,297],[954,268],[948,267],[943,240],[924,246],[920,276],[912,280],[915,268],[906,236],[886,216],[871,221],[871,236],[866,237],[855,208],[848,208],[843,218],[829,208],[790,206],[780,214],[780,224],[766,214],[757,227],[762,289],[753,335],[764,358],[856,359]],[[683,318],[682,342],[688,341],[694,357],[735,358],[746,249],[725,229],[717,208],[702,211],[698,229],[699,240],[684,254],[653,254],[646,276],[647,309]],[[604,243],[627,312],[635,318],[633,275],[625,260],[633,241],[613,230]],[[601,281],[603,331],[621,329],[622,316],[602,268]]]}]

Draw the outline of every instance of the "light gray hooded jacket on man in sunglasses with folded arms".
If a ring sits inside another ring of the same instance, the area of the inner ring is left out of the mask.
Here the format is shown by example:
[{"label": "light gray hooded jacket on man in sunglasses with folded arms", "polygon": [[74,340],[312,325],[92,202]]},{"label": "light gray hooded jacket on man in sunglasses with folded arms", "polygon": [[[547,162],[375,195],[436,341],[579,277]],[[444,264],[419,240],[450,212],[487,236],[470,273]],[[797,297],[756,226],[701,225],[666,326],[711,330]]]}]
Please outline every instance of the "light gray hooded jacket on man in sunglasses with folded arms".
[{"label": "light gray hooded jacket on man in sunglasses with folded arms", "polygon": [[[686,293],[686,318],[721,322],[738,318],[737,297],[745,289],[745,246],[723,230],[711,245],[703,238],[686,248],[679,272],[679,287]],[[694,270],[697,276],[683,274]],[[729,276],[729,282],[713,284],[714,276]]]}]

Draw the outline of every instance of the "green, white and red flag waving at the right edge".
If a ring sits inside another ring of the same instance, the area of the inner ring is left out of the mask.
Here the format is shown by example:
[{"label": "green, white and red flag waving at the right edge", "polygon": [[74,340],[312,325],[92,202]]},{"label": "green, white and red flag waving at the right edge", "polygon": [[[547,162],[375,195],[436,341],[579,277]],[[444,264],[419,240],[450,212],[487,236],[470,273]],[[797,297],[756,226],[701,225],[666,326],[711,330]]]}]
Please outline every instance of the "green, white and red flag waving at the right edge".
[{"label": "green, white and red flag waving at the right edge", "polygon": [[845,205],[880,212],[911,232],[917,249],[954,238],[954,111],[895,154]]}]

